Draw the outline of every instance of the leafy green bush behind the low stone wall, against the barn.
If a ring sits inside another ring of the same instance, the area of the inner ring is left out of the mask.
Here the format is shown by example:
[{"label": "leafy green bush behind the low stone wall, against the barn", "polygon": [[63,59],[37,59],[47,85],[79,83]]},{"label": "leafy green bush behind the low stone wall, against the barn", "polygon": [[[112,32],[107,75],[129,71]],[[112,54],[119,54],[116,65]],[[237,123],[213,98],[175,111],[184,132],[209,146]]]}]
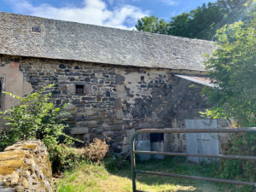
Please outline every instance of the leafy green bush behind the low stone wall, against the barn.
[{"label": "leafy green bush behind the low stone wall, against the barn", "polygon": [[[65,136],[70,139],[63,130],[67,127],[64,124],[62,117],[67,114],[61,110],[62,108],[55,108],[52,102],[49,102],[51,92],[45,90],[53,87],[54,84],[49,84],[44,89],[34,92],[26,97],[15,96],[9,92],[3,92],[20,100],[20,104],[10,108],[2,113],[0,116],[6,120],[10,127],[6,130],[6,137],[9,137],[9,143],[12,144],[18,140],[32,140],[40,139],[47,146],[50,143],[58,143],[60,136]],[[4,140],[4,137],[0,137]],[[4,143],[4,141],[0,141]]]}]

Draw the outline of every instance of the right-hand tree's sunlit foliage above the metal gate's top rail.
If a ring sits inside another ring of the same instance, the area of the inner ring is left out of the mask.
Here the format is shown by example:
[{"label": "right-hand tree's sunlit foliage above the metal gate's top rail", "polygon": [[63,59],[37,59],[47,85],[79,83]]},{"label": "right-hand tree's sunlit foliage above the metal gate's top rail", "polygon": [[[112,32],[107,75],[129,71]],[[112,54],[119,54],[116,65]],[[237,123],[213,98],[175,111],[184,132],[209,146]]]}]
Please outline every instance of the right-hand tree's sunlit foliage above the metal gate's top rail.
[{"label": "right-hand tree's sunlit foliage above the metal gate's top rail", "polygon": [[216,35],[218,49],[207,61],[212,82],[209,91],[212,112],[218,117],[236,119],[241,126],[256,125],[256,13],[247,20],[225,25]]}]

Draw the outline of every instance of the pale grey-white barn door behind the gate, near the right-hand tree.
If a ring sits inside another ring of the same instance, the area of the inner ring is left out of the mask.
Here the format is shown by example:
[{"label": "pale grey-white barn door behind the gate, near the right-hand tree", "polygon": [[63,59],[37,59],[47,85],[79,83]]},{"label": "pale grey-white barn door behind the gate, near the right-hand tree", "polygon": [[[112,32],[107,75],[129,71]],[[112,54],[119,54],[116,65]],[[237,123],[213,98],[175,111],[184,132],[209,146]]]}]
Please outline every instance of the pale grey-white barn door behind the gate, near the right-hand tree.
[{"label": "pale grey-white barn door behind the gate, near the right-hand tree", "polygon": [[[217,129],[217,119],[185,119],[186,129]],[[187,153],[219,154],[218,133],[186,133]],[[188,157],[195,163],[218,161],[216,158]]]}]

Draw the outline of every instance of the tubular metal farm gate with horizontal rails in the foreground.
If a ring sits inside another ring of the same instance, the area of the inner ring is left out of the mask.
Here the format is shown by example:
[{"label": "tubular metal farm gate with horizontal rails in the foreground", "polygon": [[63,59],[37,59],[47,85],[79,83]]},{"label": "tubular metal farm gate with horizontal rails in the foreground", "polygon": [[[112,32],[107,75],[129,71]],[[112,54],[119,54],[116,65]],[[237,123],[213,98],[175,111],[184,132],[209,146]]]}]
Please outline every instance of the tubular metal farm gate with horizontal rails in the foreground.
[{"label": "tubular metal farm gate with horizontal rails in the foreground", "polygon": [[196,176],[188,176],[188,175],[180,175],[173,173],[164,173],[164,172],[148,172],[136,170],[136,160],[135,154],[164,154],[164,155],[172,155],[172,156],[194,156],[194,157],[211,157],[211,158],[223,158],[223,159],[231,159],[231,160],[256,160],[256,156],[241,156],[241,155],[212,155],[212,154],[188,154],[188,153],[169,153],[169,152],[157,152],[157,151],[139,151],[135,150],[135,139],[141,133],[239,133],[239,132],[256,132],[256,127],[243,127],[243,128],[227,128],[227,129],[143,129],[139,130],[133,134],[131,137],[131,177],[132,177],[132,191],[136,192],[136,174],[143,173],[149,175],[159,175],[166,177],[182,177],[182,178],[191,178],[196,180],[203,181],[212,181],[218,183],[232,183],[232,184],[241,184],[256,187],[256,183],[251,182],[241,182],[229,179],[219,179],[212,177],[196,177]]}]

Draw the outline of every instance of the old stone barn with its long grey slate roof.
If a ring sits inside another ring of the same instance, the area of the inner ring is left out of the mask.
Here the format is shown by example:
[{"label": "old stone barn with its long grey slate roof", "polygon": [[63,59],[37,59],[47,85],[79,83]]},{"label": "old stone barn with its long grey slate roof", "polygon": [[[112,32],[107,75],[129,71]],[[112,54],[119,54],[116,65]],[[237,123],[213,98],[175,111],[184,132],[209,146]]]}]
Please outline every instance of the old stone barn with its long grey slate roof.
[{"label": "old stone barn with its long grey slate roof", "polygon": [[[24,96],[54,83],[53,102],[70,103],[70,133],[111,137],[127,151],[137,129],[183,128],[207,108],[204,54],[214,44],[148,32],[0,13],[1,90]],[[1,95],[1,109],[15,100]],[[164,137],[183,151],[184,136]]]}]

